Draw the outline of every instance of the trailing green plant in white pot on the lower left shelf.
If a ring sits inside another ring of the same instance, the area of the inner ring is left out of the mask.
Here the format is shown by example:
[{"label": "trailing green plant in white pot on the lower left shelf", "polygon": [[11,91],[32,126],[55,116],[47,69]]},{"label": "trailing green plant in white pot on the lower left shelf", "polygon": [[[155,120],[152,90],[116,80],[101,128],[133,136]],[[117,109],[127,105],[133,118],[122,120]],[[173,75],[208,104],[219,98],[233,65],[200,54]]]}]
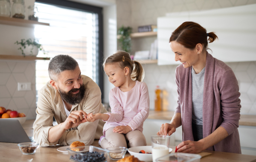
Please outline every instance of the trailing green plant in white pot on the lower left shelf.
[{"label": "trailing green plant in white pot on the lower left shelf", "polygon": [[43,54],[46,54],[44,48],[41,44],[37,43],[35,39],[22,39],[20,42],[15,42],[14,44],[20,45],[21,47],[18,48],[22,52],[22,55],[25,57],[26,55],[36,56],[38,55],[38,50],[43,51]]}]

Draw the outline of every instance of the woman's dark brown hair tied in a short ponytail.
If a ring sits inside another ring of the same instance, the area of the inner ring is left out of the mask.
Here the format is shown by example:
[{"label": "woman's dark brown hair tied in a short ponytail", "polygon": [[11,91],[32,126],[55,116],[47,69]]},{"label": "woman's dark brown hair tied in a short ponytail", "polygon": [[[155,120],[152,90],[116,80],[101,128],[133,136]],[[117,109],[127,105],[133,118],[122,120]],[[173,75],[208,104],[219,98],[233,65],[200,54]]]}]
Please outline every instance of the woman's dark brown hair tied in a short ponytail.
[{"label": "woman's dark brown hair tied in a short ponytail", "polygon": [[207,50],[209,49],[207,37],[209,37],[209,43],[218,39],[215,32],[207,33],[207,30],[198,23],[187,21],[182,23],[175,31],[172,32],[169,43],[176,41],[189,49],[194,49],[198,43],[201,43]]}]

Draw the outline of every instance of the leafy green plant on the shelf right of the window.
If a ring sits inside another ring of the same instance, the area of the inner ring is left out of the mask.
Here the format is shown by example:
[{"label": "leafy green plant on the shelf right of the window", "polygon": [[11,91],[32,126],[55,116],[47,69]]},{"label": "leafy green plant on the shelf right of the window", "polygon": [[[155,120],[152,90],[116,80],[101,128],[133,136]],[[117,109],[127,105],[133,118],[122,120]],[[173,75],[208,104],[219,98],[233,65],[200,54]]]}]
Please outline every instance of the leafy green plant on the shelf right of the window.
[{"label": "leafy green plant on the shelf right of the window", "polygon": [[117,34],[119,36],[118,42],[121,45],[121,48],[123,51],[126,51],[128,53],[131,52],[131,37],[130,34],[132,32],[131,27],[120,27],[117,31]]}]

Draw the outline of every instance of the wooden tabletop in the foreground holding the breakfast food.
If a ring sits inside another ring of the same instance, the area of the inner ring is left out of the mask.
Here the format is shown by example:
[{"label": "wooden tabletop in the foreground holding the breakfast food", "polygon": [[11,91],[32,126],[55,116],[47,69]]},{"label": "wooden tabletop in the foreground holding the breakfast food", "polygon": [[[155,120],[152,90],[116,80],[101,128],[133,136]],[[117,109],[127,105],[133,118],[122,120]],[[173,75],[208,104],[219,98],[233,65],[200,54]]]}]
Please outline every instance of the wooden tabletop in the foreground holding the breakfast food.
[{"label": "wooden tabletop in the foreground holding the breakfast food", "polygon": [[[27,120],[22,126],[27,134],[31,136],[33,122],[35,120]],[[94,146],[100,147],[98,140],[93,142]],[[20,152],[17,143],[0,142],[0,162],[70,162],[67,153],[57,151],[58,146],[39,147],[32,155],[23,155]],[[175,146],[171,146],[175,151]],[[225,153],[218,151],[204,151],[212,153],[201,159],[201,162],[256,162],[256,156],[243,155],[237,153]],[[125,156],[130,156],[127,152]],[[116,162],[108,158],[108,162]]]}]

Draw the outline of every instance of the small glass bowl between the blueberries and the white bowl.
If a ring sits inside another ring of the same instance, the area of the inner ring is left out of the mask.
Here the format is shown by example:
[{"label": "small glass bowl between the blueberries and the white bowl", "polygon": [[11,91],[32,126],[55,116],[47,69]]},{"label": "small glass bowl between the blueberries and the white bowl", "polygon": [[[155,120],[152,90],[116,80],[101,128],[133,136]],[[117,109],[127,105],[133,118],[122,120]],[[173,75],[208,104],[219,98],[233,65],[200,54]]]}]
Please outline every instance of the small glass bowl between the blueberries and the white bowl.
[{"label": "small glass bowl between the blueberries and the white bowl", "polygon": [[111,160],[119,160],[125,157],[128,148],[125,147],[111,147],[107,148],[108,156]]}]

